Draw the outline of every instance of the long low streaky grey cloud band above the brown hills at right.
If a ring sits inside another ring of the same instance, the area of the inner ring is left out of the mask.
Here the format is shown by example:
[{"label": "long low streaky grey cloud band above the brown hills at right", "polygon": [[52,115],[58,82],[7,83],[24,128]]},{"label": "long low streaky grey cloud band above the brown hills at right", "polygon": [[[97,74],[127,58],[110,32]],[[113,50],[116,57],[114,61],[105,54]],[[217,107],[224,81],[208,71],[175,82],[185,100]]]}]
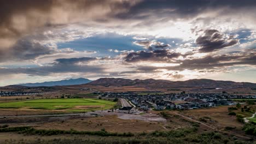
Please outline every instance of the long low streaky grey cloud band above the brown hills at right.
[{"label": "long low streaky grey cloud band above the brown hills at right", "polygon": [[249,67],[256,67],[256,52],[246,52],[242,55],[219,55],[219,56],[206,56],[203,58],[179,60],[174,63],[179,65],[172,67],[154,67],[154,66],[141,66],[138,70],[154,71],[157,69],[167,70],[225,70],[228,67],[235,65],[247,65]]}]

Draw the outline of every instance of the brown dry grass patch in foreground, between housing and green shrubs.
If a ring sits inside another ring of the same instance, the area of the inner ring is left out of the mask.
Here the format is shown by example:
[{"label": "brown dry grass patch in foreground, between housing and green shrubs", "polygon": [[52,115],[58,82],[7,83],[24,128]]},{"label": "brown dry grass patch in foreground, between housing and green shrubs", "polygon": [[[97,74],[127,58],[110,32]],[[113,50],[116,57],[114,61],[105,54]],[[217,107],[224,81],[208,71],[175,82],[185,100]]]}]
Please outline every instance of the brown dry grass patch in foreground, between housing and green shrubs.
[{"label": "brown dry grass patch in foreground, between housing and green shrubs", "polygon": [[74,118],[65,121],[45,122],[38,125],[37,129],[75,129],[79,131],[97,131],[106,129],[111,132],[132,132],[165,130],[162,126],[164,123],[144,122],[137,120],[124,120],[117,116],[91,117],[91,118]]}]

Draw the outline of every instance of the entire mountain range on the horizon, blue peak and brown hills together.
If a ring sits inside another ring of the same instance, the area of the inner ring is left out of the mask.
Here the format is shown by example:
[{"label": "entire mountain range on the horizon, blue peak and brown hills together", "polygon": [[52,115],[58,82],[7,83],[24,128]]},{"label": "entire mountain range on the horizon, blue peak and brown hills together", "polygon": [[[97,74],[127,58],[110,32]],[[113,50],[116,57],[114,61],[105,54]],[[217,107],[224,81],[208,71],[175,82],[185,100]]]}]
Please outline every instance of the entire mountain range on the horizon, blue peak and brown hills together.
[{"label": "entire mountain range on the horizon, blue peak and brown hills together", "polygon": [[247,88],[256,87],[256,83],[251,82],[234,82],[234,81],[219,81],[210,79],[191,79],[187,81],[169,81],[169,80],[131,80],[122,78],[100,78],[95,81],[89,79],[69,79],[61,81],[48,81],[37,83],[22,83],[20,86],[38,87],[38,86],[68,86],[68,85],[92,85],[92,86],[135,86],[146,88],[185,88],[185,87],[200,87],[200,88]]}]

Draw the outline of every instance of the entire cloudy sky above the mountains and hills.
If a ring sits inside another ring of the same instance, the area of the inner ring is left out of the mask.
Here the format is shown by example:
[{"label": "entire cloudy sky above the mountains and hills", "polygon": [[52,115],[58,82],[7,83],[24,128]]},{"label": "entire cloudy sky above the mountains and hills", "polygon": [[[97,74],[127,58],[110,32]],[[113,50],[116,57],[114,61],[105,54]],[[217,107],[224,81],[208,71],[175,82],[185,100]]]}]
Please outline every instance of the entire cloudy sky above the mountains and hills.
[{"label": "entire cloudy sky above the mountains and hills", "polygon": [[253,0],[0,1],[0,86],[78,77],[256,83]]}]

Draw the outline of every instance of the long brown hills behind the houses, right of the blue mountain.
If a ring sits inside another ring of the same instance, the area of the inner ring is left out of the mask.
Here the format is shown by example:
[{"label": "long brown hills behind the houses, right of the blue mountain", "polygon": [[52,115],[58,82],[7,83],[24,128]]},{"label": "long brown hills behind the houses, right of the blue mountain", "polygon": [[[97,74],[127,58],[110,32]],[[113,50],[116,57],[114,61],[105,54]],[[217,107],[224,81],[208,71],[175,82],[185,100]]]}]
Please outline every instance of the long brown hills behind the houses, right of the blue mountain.
[{"label": "long brown hills behind the houses, right of the blue mountain", "polygon": [[234,82],[234,81],[217,81],[210,79],[191,79],[187,81],[168,81],[168,80],[130,80],[121,78],[101,78],[86,85],[94,86],[137,86],[148,88],[177,88],[177,87],[201,87],[201,88],[238,88],[238,87],[256,87],[256,83]]}]

